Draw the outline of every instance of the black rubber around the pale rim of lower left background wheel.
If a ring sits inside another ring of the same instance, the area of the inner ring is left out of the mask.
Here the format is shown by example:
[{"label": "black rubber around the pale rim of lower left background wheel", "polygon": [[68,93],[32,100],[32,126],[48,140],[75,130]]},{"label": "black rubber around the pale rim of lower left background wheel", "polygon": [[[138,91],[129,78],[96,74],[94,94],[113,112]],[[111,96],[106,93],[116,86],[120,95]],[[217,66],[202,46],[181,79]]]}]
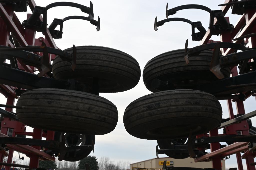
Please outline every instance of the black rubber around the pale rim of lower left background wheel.
[{"label": "black rubber around the pale rim of lower left background wheel", "polygon": [[[62,134],[60,132],[55,132],[54,140],[61,142]],[[86,141],[83,145],[93,145],[95,144],[95,135],[86,135]],[[91,153],[92,149],[77,149],[76,151],[69,151],[65,154],[63,160],[76,162],[84,159]]]}]

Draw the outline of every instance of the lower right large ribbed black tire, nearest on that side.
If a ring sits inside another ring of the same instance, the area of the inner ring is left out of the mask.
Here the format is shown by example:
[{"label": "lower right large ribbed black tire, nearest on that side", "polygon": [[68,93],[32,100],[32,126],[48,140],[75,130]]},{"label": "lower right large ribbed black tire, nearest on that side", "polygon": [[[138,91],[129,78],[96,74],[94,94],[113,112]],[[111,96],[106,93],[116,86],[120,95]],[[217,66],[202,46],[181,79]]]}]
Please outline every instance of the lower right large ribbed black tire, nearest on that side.
[{"label": "lower right large ribbed black tire, nearest on that side", "polygon": [[198,90],[168,90],[145,95],[130,103],[124,126],[141,139],[179,139],[216,128],[222,117],[217,98]]}]

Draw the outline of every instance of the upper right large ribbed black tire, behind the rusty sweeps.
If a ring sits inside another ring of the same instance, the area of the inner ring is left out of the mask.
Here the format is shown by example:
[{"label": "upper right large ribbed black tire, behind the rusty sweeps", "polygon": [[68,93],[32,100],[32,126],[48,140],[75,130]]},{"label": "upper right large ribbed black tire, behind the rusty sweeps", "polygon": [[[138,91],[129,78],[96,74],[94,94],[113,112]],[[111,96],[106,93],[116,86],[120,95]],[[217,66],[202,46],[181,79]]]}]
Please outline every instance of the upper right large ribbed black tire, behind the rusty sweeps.
[{"label": "upper right large ribbed black tire, behind the rusty sweeps", "polygon": [[[151,92],[157,92],[151,86],[154,79],[169,81],[175,85],[175,89],[190,89],[191,83],[218,80],[209,70],[212,57],[211,50],[205,50],[199,55],[189,57],[189,64],[185,62],[184,52],[185,49],[169,51],[147,62],[143,70],[143,81],[146,88]],[[224,68],[221,71],[225,77],[230,77],[230,68]]]}]

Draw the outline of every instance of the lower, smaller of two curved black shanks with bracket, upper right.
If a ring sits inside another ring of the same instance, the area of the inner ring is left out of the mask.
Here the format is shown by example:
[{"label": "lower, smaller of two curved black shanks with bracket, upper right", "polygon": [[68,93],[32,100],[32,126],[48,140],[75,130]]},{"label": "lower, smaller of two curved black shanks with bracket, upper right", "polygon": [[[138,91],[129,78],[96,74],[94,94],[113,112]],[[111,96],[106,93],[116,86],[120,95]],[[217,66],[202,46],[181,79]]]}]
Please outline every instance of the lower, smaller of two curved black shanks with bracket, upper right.
[{"label": "lower, smaller of two curved black shanks with bracket, upper right", "polygon": [[[165,22],[170,22],[170,21],[182,21],[182,22],[187,22],[191,25],[191,29],[192,29],[192,41],[200,41],[202,40],[202,38],[204,37],[206,30],[205,28],[202,26],[202,23],[200,21],[197,22],[192,22],[188,19],[185,18],[167,18],[161,21],[157,22],[157,17],[155,18],[155,24],[154,24],[154,30],[157,31],[157,27],[164,25]],[[195,33],[195,28],[198,29],[199,32]]]}]

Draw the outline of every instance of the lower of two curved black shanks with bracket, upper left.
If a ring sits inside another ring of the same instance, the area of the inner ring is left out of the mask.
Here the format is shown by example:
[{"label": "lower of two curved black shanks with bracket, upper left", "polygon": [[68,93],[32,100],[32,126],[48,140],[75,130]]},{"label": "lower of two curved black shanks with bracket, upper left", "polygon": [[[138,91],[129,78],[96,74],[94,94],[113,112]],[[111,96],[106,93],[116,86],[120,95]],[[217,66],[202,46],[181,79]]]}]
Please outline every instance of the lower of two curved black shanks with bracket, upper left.
[{"label": "lower of two curved black shanks with bracket, upper left", "polygon": [[[55,39],[60,39],[62,38],[62,29],[63,29],[63,22],[70,20],[70,19],[82,19],[82,20],[87,20],[90,21],[90,23],[92,25],[96,26],[97,31],[100,31],[100,17],[98,16],[98,21],[94,20],[94,19],[90,19],[89,17],[84,17],[84,16],[69,16],[63,19],[57,19],[54,18],[54,20],[52,21],[51,25],[49,26],[49,31],[51,33],[52,38]],[[55,30],[55,28],[60,25],[60,30]]]}]

